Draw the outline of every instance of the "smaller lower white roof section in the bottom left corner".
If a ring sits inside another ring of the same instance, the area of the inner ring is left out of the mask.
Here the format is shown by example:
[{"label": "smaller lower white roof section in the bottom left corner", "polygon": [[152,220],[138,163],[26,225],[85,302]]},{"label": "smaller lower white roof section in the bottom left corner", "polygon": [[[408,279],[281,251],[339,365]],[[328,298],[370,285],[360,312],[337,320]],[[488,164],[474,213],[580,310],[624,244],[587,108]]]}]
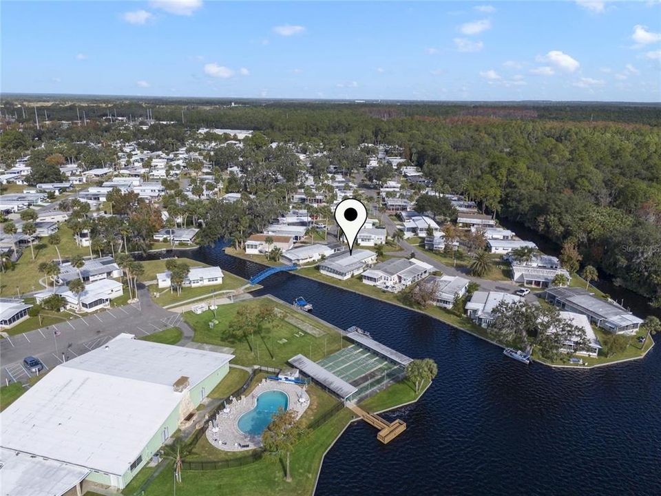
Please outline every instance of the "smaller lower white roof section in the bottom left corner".
[{"label": "smaller lower white roof section in the bottom left corner", "polygon": [[2,496],[60,496],[88,473],[88,468],[0,448]]}]

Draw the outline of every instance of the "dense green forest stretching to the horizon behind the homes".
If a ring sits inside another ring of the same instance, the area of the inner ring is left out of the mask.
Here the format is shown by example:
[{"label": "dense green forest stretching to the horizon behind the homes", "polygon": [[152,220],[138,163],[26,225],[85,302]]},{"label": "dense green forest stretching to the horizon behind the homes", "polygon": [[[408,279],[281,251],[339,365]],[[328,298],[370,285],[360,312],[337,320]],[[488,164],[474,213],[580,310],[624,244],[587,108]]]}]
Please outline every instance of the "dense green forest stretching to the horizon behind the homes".
[{"label": "dense green forest stretching to the horizon behind the homes", "polygon": [[[21,133],[24,143],[4,133],[3,151],[11,156],[50,139],[102,143],[114,138],[175,149],[185,142],[187,130],[200,126],[260,130],[270,141],[336,154],[360,143],[399,145],[434,189],[465,194],[485,211],[523,223],[558,245],[575,245],[582,263],[661,304],[658,105],[180,103],[53,103],[39,112],[47,108],[51,119],[75,121],[84,109],[91,122],[37,131],[31,107],[32,114],[26,110],[23,119],[18,103],[4,101],[3,115],[18,116],[10,127],[30,124]],[[101,120],[108,113],[145,118],[148,108],[157,121],[177,124],[127,130]]]}]

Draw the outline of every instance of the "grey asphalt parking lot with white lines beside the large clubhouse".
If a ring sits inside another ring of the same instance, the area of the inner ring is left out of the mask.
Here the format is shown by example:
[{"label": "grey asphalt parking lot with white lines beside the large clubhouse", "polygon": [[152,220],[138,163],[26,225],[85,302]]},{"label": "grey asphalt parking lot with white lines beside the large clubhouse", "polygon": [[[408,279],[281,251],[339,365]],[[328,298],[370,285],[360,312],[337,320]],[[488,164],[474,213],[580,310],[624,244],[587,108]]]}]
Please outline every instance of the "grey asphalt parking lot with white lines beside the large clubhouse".
[{"label": "grey asphalt parking lot with white lines beside the large clubhouse", "polygon": [[168,327],[176,327],[178,313],[161,309],[151,302],[115,307],[92,315],[72,318],[0,340],[0,380],[3,385],[26,382],[36,373],[23,366],[23,359],[34,356],[43,363],[44,371],[78,355],[102,347],[120,333],[136,337]]}]

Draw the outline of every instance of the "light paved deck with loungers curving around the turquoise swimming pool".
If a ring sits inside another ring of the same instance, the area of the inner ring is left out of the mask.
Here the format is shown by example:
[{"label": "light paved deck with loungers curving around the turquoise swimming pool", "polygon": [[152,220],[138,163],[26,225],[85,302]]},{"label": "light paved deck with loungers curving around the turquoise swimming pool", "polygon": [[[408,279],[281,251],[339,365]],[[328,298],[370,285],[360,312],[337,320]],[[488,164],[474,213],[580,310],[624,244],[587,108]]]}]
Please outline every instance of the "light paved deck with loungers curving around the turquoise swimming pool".
[{"label": "light paved deck with loungers curving around the turquoise swimming pool", "polygon": [[[247,451],[262,446],[260,437],[248,435],[238,428],[238,421],[244,413],[251,411],[257,405],[257,397],[266,391],[282,391],[288,397],[288,410],[296,412],[299,419],[310,405],[310,397],[304,386],[291,382],[277,382],[263,379],[252,393],[241,398],[233,398],[224,411],[218,412],[215,424],[209,422],[207,440],[211,446],[223,451]],[[302,399],[303,401],[300,401]],[[241,446],[244,445],[244,446]],[[246,446],[247,445],[247,446]]]}]

